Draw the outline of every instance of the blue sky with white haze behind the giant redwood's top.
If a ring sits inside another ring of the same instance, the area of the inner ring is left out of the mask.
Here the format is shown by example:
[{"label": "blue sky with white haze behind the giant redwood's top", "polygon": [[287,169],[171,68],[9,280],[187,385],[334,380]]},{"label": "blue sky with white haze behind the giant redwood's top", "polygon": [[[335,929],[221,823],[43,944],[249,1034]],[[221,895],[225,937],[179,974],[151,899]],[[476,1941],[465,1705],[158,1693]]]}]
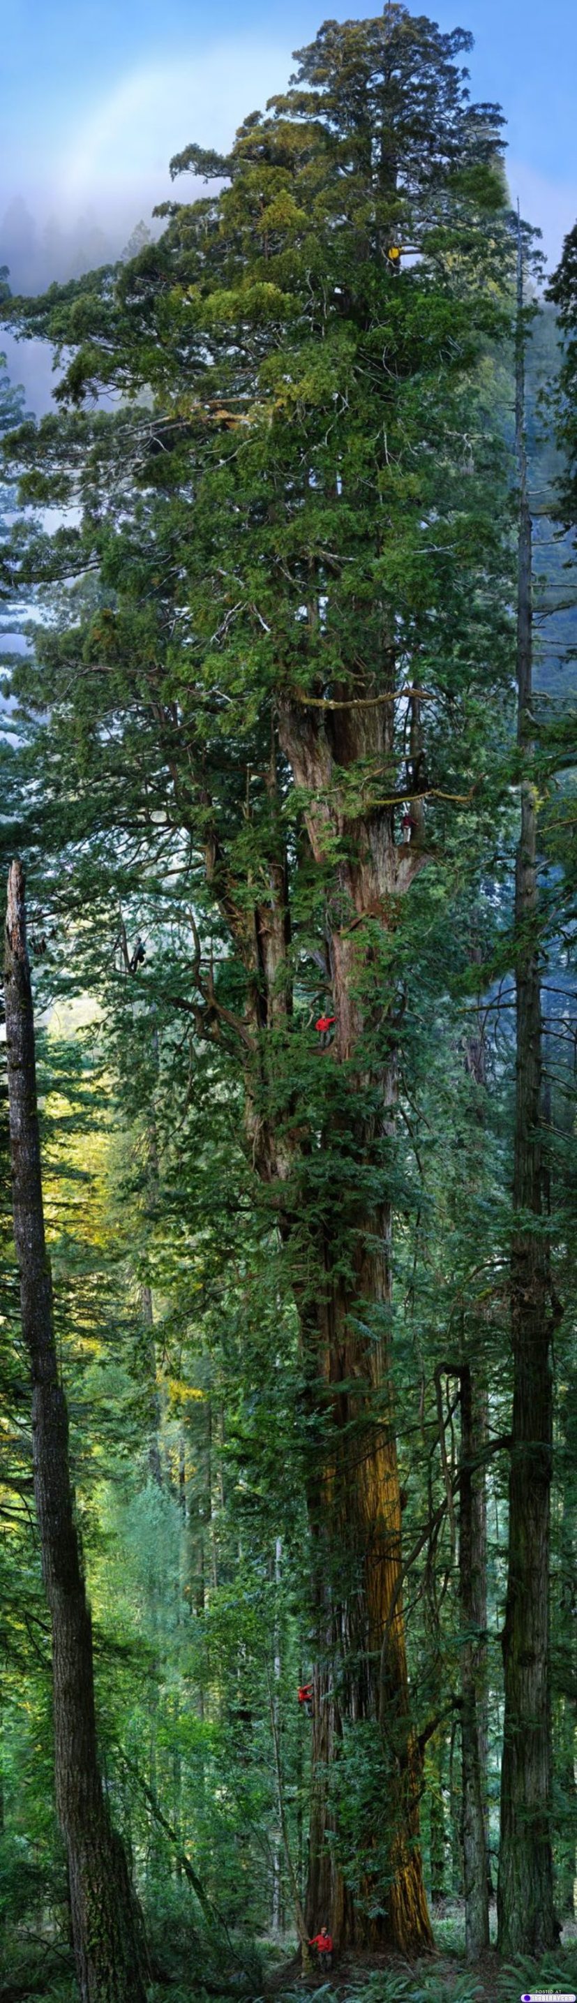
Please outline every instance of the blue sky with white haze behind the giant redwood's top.
[{"label": "blue sky with white haze behind the giant redwood's top", "polygon": [[[329,0],[335,12],[371,6]],[[471,90],[503,104],[511,192],[555,262],[577,216],[575,0],[431,0],[431,14],[473,30]],[[190,138],[226,144],[323,18],[319,0],[12,0],[0,218],[20,194],[40,222],[92,212],[128,234],[168,192],[170,152]]]}]

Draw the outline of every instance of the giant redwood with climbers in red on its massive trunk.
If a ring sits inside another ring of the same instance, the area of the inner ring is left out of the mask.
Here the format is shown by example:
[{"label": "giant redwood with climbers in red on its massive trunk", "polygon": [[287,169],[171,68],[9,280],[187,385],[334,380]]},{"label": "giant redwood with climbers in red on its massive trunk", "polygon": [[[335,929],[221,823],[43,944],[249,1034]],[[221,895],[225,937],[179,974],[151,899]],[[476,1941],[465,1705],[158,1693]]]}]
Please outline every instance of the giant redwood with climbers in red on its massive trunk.
[{"label": "giant redwood with climbers in red on its massive trunk", "polygon": [[[511,673],[509,236],[467,46],[403,6],[327,22],[228,158],[172,162],[214,194],[170,204],[132,264],[6,308],[66,351],[60,413],[12,439],[22,499],[80,507],[22,553],[24,575],[86,579],[18,671],[52,839],[72,881],[96,845],[102,957],[114,843],[128,867],[172,831],[190,951],[164,999],[236,1066],[299,1312],[307,1923],[407,1953],[431,1931],[391,1372],[399,1054],[411,939],[479,869]],[[357,1729],[353,1883],[337,1797]]]}]

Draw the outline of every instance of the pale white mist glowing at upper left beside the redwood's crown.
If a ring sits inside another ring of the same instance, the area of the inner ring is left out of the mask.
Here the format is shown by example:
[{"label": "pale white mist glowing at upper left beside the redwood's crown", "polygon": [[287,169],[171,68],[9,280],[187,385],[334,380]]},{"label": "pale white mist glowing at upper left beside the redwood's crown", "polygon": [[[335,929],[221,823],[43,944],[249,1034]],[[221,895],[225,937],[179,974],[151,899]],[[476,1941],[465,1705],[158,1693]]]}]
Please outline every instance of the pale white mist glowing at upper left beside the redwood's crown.
[{"label": "pale white mist glowing at upper left beside the redwood's crown", "polygon": [[[204,50],[186,48],[178,62],[142,54],[106,80],[94,78],[92,88],[86,76],[62,104],[60,122],[52,104],[32,166],[24,132],[14,128],[10,138],[8,110],[0,134],[0,266],[8,266],[10,290],[38,294],[130,254],[138,224],[156,234],[158,202],[206,192],[192,176],[174,184],[170,156],[188,140],[226,152],[246,112],[264,108],[282,88],[291,60],[291,36],[228,36]],[[12,381],[24,383],[40,415],[50,405],[52,359],[36,355],[36,343],[32,351],[30,343],[16,349],[4,330],[2,349]]]}]

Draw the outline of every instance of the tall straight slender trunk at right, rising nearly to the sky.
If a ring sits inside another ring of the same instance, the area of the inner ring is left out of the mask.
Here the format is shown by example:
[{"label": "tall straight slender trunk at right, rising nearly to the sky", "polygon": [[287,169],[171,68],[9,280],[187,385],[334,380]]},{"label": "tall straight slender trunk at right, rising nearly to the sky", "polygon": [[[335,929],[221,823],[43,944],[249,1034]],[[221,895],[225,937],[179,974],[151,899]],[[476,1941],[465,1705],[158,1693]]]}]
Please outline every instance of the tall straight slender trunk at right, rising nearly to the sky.
[{"label": "tall straight slender trunk at right, rising nearly to the sky", "polygon": [[531,763],[531,513],[525,453],[523,242],[517,262],[519,597],[517,689],[521,835],[515,869],[517,1084],[511,1244],[513,1448],[503,1630],[499,1947],[555,1941],[551,1855],[549,1500],[553,1446],[551,1280],[543,1220],[537,793]]}]

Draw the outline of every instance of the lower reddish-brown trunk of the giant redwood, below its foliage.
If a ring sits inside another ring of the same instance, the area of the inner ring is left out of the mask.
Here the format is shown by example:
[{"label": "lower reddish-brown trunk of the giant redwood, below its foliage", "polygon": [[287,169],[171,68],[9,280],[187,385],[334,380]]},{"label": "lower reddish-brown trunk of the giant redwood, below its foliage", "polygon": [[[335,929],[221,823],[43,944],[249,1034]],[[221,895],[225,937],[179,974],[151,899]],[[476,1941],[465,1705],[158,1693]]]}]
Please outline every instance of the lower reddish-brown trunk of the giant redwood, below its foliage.
[{"label": "lower reddish-brown trunk of the giant redwood, below its foliage", "polygon": [[[319,1442],[309,1476],[317,1666],[313,1679],[313,1801],[307,1887],[309,1933],[327,1925],[339,1947],[431,1947],[419,1851],[421,1759],[409,1711],[401,1572],[401,1488],[391,1396],[389,1216],[359,1222],[357,1284],[329,1270],[319,1300],[311,1364]],[[329,1228],[325,1258],[339,1230]],[[383,1638],[385,1658],[383,1658]],[[365,1851],[379,1847],[353,1899],[339,1865],[339,1817],[331,1801],[345,1735],[375,1725],[379,1797],[367,1805]],[[385,1799],[383,1799],[385,1793]],[[373,1821],[373,1827],[371,1827]],[[387,1859],[383,1859],[387,1839]]]}]

